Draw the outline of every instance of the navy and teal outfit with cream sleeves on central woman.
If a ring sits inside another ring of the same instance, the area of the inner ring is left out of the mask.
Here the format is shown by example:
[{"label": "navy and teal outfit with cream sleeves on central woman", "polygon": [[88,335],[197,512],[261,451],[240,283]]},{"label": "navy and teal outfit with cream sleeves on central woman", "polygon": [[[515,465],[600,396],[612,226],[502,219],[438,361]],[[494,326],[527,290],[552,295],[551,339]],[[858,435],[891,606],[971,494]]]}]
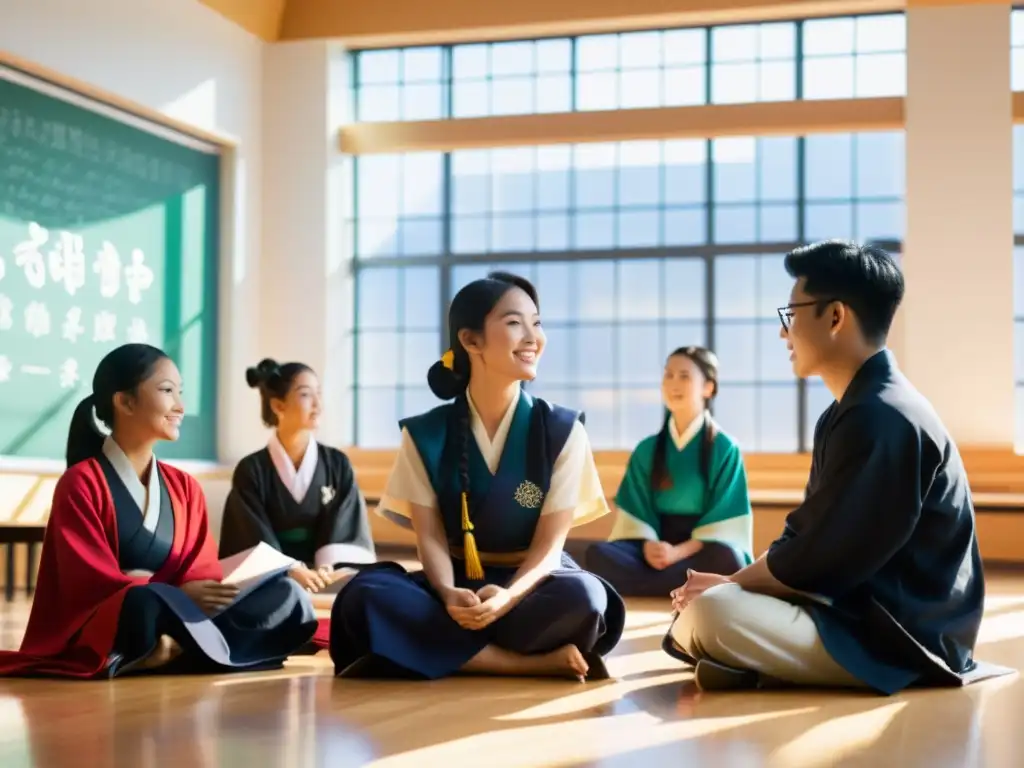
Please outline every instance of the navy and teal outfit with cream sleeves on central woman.
[{"label": "navy and teal outfit with cream sleeves on central woman", "polygon": [[[471,399],[467,407],[469,434],[458,401],[400,422],[401,446],[377,511],[411,526],[413,505],[436,510],[455,586],[504,587],[523,562],[542,515],[572,510],[579,525],[607,514],[608,507],[581,414],[520,391],[490,439]],[[465,521],[463,455],[472,509]],[[464,552],[464,522],[472,525],[482,579],[467,574],[467,559],[475,558]],[[564,552],[560,567],[477,631],[449,615],[423,571],[392,564],[358,573],[338,595],[331,656],[342,676],[436,679],[459,671],[488,644],[520,654],[574,644],[596,672],[604,669],[601,656],[617,643],[624,622],[614,588]]]}]

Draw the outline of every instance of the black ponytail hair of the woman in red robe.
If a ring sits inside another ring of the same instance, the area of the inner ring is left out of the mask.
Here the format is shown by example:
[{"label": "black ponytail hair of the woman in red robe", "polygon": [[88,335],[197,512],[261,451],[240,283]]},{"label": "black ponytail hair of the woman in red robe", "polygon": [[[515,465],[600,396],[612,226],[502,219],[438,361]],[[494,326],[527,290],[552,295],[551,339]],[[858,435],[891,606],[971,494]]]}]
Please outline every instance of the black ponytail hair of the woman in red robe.
[{"label": "black ponytail hair of the woman in red robe", "polygon": [[166,358],[162,349],[148,344],[122,344],[106,353],[92,376],[92,394],[78,403],[71,418],[65,451],[69,467],[102,453],[105,437],[96,421],[113,431],[114,397],[120,392],[135,394],[138,385],[153,376],[157,364]]}]

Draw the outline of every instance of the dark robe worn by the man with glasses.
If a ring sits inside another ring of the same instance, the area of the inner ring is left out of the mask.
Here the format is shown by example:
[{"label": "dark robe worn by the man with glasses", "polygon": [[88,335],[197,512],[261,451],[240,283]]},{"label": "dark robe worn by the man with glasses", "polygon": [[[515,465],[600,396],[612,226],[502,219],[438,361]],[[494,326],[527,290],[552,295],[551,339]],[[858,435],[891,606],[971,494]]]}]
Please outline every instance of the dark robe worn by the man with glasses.
[{"label": "dark robe worn by the man with glasses", "polygon": [[883,693],[1008,672],[974,658],[985,580],[959,453],[886,350],[818,420],[807,496],[767,565],[816,596],[828,653]]}]

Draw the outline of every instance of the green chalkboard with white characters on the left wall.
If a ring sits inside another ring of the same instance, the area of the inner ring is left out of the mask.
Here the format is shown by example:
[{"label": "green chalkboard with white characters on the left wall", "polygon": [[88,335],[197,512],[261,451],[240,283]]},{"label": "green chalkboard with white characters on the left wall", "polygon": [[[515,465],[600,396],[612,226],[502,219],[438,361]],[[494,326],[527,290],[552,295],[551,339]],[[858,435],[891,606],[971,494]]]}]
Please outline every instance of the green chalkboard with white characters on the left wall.
[{"label": "green chalkboard with white characters on the left wall", "polygon": [[[128,65],[130,66],[130,65]],[[216,458],[217,148],[0,68],[0,456],[62,459],[100,358],[166,350]]]}]

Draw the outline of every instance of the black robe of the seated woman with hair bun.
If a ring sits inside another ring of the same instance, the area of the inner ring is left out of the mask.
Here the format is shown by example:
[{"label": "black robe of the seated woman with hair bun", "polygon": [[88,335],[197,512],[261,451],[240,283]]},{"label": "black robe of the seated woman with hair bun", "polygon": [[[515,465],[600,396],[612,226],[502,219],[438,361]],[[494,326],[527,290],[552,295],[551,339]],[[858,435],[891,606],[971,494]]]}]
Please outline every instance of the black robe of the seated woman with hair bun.
[{"label": "black robe of the seated woman with hair bun", "polygon": [[[348,457],[316,445],[316,471],[302,502],[281,481],[267,449],[234,468],[220,527],[220,558],[269,544],[313,567],[359,567],[376,559],[367,505]],[[330,563],[316,553],[333,554]]]}]

